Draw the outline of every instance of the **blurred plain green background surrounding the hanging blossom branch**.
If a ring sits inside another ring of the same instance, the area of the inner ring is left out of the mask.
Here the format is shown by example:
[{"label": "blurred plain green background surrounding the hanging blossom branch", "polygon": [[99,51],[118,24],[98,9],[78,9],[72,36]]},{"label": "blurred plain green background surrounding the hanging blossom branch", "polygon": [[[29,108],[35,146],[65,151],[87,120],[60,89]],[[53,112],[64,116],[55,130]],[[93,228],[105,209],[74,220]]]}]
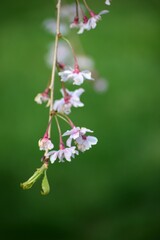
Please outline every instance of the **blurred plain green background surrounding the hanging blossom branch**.
[{"label": "blurred plain green background surrounding the hanging blossom branch", "polygon": [[[19,184],[41,165],[37,147],[48,110],[33,99],[50,77],[52,40],[42,28],[56,1],[4,1],[0,14],[2,239],[160,239],[160,79],[158,0],[112,1],[96,30],[81,36],[109,80],[71,115],[99,144],[72,163],[50,165],[51,193]],[[62,1],[63,2],[63,1]],[[72,1],[66,1],[72,2]],[[93,10],[104,0],[88,0]]]}]

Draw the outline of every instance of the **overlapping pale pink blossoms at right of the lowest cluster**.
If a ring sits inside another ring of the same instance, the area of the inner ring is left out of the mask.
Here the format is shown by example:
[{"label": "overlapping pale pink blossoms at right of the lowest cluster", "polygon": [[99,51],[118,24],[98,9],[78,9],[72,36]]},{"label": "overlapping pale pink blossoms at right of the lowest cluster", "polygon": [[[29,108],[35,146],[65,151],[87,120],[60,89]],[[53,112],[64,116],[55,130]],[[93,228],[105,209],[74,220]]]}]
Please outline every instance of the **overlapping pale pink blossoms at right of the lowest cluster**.
[{"label": "overlapping pale pink blossoms at right of the lowest cluster", "polygon": [[67,146],[70,147],[72,140],[75,140],[77,147],[81,152],[84,152],[92,147],[92,145],[97,144],[98,140],[93,136],[86,136],[87,132],[93,132],[87,128],[74,127],[71,130],[66,131],[63,136],[69,136],[67,140]]}]

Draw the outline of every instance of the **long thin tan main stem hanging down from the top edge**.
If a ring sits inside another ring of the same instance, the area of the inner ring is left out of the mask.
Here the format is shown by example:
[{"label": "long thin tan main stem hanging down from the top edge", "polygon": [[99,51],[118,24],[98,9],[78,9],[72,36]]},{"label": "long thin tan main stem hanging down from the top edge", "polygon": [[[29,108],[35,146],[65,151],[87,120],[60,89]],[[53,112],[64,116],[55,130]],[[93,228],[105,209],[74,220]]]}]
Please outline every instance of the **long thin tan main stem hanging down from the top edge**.
[{"label": "long thin tan main stem hanging down from the top edge", "polygon": [[[55,81],[55,72],[56,72],[56,60],[57,60],[57,50],[58,50],[58,40],[61,36],[60,34],[60,9],[61,9],[61,0],[57,2],[57,26],[56,26],[56,37],[55,37],[55,46],[54,46],[54,57],[52,65],[52,76],[50,82],[50,112],[53,110],[53,101],[54,101],[54,81]],[[52,115],[49,113],[49,122],[52,119]],[[48,135],[50,138],[51,135],[51,124],[49,125]]]}]

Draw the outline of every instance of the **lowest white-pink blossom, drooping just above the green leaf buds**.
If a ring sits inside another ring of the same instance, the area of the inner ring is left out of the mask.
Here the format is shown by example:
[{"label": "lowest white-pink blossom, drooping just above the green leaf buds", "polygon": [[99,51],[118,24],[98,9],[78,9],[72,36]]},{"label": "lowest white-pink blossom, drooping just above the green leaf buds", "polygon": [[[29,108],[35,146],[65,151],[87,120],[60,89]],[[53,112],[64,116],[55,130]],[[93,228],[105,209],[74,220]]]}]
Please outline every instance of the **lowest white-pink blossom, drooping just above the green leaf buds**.
[{"label": "lowest white-pink blossom, drooping just above the green leaf buds", "polygon": [[75,154],[79,154],[75,149],[76,147],[64,148],[58,151],[51,151],[47,154],[50,157],[51,163],[54,163],[57,158],[59,158],[59,162],[64,162],[64,159],[67,161],[71,161],[71,158],[75,157]]}]

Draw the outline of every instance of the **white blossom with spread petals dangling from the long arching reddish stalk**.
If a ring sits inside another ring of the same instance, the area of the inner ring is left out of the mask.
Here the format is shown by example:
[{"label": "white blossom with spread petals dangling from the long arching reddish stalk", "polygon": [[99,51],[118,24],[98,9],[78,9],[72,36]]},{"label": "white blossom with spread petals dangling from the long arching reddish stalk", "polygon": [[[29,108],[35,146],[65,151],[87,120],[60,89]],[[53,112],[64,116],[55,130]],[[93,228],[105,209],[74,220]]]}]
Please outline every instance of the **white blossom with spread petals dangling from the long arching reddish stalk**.
[{"label": "white blossom with spread petals dangling from the long arching reddish stalk", "polygon": [[59,72],[58,74],[61,77],[62,82],[73,79],[74,85],[81,85],[85,79],[93,80],[93,78],[91,77],[91,72],[88,70],[80,72],[77,69],[75,70],[71,68],[71,70],[65,70],[63,72]]}]

